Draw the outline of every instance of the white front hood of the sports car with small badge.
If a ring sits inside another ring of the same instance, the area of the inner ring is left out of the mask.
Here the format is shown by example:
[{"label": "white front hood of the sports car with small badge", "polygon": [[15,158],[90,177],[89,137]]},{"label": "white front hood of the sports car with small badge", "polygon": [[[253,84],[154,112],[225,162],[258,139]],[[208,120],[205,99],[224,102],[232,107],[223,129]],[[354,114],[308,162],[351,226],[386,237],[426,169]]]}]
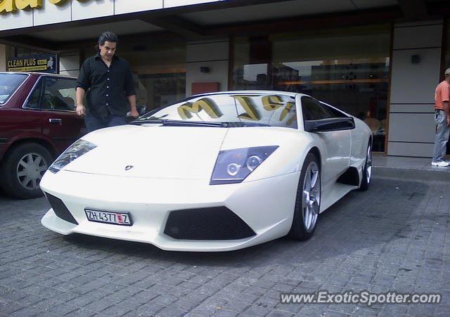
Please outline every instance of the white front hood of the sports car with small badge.
[{"label": "white front hood of the sports car with small badge", "polygon": [[83,138],[97,148],[65,170],[111,176],[210,179],[228,129],[122,126]]}]

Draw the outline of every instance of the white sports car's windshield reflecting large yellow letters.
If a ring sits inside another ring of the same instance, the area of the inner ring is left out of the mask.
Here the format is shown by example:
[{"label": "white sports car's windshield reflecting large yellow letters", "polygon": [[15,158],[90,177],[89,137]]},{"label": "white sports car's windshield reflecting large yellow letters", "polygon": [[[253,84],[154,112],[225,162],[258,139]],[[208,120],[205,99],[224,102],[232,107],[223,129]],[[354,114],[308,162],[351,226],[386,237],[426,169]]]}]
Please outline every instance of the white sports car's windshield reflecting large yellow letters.
[{"label": "white sports car's windshield reflecting large yellow letters", "polygon": [[297,129],[295,98],[283,93],[244,92],[193,96],[166,108],[148,112],[135,123],[152,121],[179,124],[214,122],[222,123],[221,127],[270,126]]}]

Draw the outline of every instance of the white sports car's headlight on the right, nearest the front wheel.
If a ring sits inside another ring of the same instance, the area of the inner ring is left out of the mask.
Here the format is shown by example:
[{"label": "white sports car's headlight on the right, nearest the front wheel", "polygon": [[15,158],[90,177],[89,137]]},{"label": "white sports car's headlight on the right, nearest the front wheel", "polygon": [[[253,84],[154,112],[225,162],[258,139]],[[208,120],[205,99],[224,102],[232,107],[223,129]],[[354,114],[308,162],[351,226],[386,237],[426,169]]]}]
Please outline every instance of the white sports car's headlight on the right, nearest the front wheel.
[{"label": "white sports car's headlight on the right, nearest the front wheel", "polygon": [[260,146],[220,151],[210,185],[240,183],[277,148],[278,146]]}]

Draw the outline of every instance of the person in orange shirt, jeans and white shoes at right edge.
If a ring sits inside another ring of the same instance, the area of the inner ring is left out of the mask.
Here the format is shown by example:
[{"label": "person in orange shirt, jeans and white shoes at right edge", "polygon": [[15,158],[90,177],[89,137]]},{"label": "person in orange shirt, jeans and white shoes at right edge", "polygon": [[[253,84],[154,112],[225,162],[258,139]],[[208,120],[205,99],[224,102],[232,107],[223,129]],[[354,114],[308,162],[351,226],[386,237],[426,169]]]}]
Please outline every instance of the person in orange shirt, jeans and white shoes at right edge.
[{"label": "person in orange shirt, jeans and white shoes at right edge", "polygon": [[450,136],[450,68],[445,70],[445,79],[436,87],[435,91],[435,148],[433,150],[432,166],[449,166],[444,160],[447,142]]}]

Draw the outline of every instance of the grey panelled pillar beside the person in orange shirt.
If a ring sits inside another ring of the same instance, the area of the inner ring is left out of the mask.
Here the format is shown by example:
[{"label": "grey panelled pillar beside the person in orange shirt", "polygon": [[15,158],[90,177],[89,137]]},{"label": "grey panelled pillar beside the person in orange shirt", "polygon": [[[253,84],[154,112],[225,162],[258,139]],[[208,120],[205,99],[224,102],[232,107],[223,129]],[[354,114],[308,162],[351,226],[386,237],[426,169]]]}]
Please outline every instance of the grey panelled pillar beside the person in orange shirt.
[{"label": "grey panelled pillar beside the person in orange shirt", "polygon": [[442,28],[442,20],[394,25],[387,155],[432,157]]}]

